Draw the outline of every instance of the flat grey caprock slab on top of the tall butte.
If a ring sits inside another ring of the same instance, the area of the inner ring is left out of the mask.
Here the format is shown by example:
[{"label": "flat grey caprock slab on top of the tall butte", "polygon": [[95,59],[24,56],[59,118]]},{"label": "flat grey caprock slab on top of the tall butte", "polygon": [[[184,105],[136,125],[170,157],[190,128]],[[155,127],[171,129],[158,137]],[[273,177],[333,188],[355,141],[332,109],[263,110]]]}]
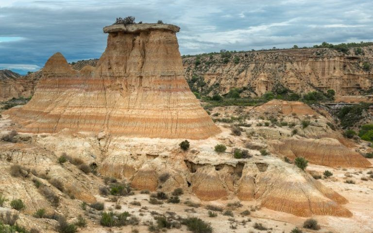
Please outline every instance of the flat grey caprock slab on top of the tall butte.
[{"label": "flat grey caprock slab on top of the tall butte", "polygon": [[172,24],[164,23],[141,23],[141,24],[114,24],[103,28],[104,33],[139,33],[153,30],[170,31],[178,33],[180,28]]}]

